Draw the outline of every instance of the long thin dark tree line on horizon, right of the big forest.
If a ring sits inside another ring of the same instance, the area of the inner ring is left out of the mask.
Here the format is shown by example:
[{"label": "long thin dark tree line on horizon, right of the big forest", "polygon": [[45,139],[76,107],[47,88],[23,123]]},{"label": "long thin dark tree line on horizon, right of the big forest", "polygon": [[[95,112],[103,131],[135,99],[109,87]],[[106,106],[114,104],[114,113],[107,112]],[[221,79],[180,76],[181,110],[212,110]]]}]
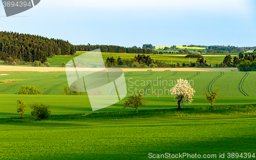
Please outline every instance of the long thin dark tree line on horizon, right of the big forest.
[{"label": "long thin dark tree line on horizon, right of the big forest", "polygon": [[127,53],[127,54],[152,54],[150,48],[136,48],[136,47],[121,47],[116,45],[76,45],[76,51],[92,51],[100,49],[101,52],[115,52],[115,53]]}]

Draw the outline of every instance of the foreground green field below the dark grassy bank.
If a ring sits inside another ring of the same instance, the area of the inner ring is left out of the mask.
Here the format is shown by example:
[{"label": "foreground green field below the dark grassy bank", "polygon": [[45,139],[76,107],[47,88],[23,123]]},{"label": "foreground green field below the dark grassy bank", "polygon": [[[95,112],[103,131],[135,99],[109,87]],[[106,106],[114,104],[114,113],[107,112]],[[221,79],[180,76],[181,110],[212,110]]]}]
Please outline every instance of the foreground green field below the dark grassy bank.
[{"label": "foreground green field below the dark grassy bank", "polygon": [[254,153],[255,120],[256,115],[217,115],[0,124],[0,159]]}]

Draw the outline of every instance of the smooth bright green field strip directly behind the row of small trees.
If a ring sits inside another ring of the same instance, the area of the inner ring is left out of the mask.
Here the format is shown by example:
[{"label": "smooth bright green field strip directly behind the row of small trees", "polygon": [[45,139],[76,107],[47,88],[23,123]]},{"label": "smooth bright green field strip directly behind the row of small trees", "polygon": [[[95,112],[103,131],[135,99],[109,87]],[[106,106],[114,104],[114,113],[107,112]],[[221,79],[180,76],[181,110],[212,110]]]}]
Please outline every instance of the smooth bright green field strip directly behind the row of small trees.
[{"label": "smooth bright green field strip directly behind the row of small trees", "polygon": [[[147,106],[139,106],[138,112],[142,110],[164,110],[164,109],[176,109],[177,105],[174,100],[174,96],[144,96],[148,100]],[[122,110],[124,100],[117,102],[107,108],[92,112],[90,101],[88,96],[67,96],[67,95],[0,95],[0,118],[20,117],[20,113],[17,113],[17,100],[23,99],[28,108],[24,114],[24,117],[30,116],[30,106],[33,102],[42,102],[50,104],[52,115],[67,115],[67,114],[91,114],[99,112],[134,112],[135,109],[126,108]],[[193,103],[181,108],[197,108],[197,107],[209,107],[210,103],[205,100],[204,96],[194,96]],[[238,104],[252,104],[255,103],[256,97],[219,97],[214,103],[215,106],[227,106]]]}]

